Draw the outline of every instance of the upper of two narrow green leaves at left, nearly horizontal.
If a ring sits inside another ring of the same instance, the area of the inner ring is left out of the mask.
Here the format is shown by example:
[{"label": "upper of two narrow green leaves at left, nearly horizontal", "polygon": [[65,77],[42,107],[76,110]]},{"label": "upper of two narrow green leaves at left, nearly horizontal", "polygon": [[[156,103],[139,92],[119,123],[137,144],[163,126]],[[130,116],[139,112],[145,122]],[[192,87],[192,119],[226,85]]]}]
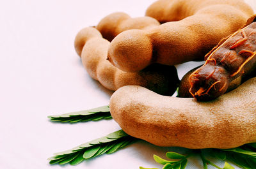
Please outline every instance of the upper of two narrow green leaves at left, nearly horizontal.
[{"label": "upper of two narrow green leaves at left, nearly horizontal", "polygon": [[99,121],[101,119],[112,119],[109,106],[93,108],[90,110],[83,110],[79,112],[72,112],[68,114],[50,115],[48,116],[54,122],[86,122]]}]

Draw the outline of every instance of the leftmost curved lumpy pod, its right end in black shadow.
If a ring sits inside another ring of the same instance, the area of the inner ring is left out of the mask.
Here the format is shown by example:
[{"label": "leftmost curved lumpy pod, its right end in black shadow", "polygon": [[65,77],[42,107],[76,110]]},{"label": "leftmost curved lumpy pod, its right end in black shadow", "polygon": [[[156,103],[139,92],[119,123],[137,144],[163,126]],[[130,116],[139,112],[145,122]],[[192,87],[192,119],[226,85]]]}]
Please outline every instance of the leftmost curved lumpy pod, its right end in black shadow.
[{"label": "leftmost curved lumpy pod, its right end in black shadow", "polygon": [[109,43],[93,27],[82,29],[76,36],[76,52],[81,55],[83,66],[93,79],[111,91],[132,84],[168,96],[175,92],[179,78],[174,66],[155,64],[136,73],[118,70],[106,61]]}]

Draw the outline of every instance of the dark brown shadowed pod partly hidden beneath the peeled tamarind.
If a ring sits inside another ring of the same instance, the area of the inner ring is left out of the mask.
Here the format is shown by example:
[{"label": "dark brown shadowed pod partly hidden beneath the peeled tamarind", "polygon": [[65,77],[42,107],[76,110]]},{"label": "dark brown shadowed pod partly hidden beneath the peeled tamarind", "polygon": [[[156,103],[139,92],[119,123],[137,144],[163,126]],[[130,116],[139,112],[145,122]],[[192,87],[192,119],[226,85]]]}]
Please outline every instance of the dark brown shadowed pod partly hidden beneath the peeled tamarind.
[{"label": "dark brown shadowed pod partly hidden beneath the peeled tamarind", "polygon": [[[192,94],[189,92],[189,89],[191,87],[191,85],[189,83],[189,76],[200,67],[201,66],[193,68],[192,70],[188,71],[188,73],[186,73],[184,75],[184,77],[182,77],[182,79],[180,80],[180,84],[179,84],[179,91],[178,91],[179,98],[193,98]],[[240,76],[240,77],[235,78],[234,80],[232,80],[230,82],[230,84],[228,84],[228,89],[226,92],[236,89],[239,85],[241,85],[243,82],[248,80],[248,78],[256,77],[255,73],[256,72],[253,72],[253,75],[248,75],[246,77]]]}]

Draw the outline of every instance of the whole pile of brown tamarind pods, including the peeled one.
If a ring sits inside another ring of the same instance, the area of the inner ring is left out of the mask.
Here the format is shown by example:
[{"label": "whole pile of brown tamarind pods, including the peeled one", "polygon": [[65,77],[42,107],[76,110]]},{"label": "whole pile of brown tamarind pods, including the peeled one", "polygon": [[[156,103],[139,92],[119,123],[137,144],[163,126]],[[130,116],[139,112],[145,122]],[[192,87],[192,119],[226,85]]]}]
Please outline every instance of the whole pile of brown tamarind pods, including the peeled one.
[{"label": "whole pile of brown tamarind pods, including the peeled one", "polygon": [[[88,74],[117,90],[111,115],[127,134],[227,149],[256,142],[256,79],[244,82],[256,67],[254,21],[243,0],[158,0],[145,17],[112,13],[82,29],[75,48]],[[176,64],[204,60],[180,82]],[[186,98],[170,97],[178,85]]]}]

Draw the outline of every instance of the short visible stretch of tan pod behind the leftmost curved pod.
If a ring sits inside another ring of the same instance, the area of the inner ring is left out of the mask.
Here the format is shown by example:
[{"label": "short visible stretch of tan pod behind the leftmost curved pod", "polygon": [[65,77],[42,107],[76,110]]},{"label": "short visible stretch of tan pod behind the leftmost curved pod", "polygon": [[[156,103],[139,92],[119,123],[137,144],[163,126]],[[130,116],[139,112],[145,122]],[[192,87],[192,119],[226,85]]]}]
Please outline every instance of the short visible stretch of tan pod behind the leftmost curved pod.
[{"label": "short visible stretch of tan pod behind the leftmost curved pod", "polygon": [[112,41],[119,33],[129,29],[149,29],[160,23],[152,17],[131,18],[124,12],[115,12],[102,18],[96,28],[103,38]]}]

